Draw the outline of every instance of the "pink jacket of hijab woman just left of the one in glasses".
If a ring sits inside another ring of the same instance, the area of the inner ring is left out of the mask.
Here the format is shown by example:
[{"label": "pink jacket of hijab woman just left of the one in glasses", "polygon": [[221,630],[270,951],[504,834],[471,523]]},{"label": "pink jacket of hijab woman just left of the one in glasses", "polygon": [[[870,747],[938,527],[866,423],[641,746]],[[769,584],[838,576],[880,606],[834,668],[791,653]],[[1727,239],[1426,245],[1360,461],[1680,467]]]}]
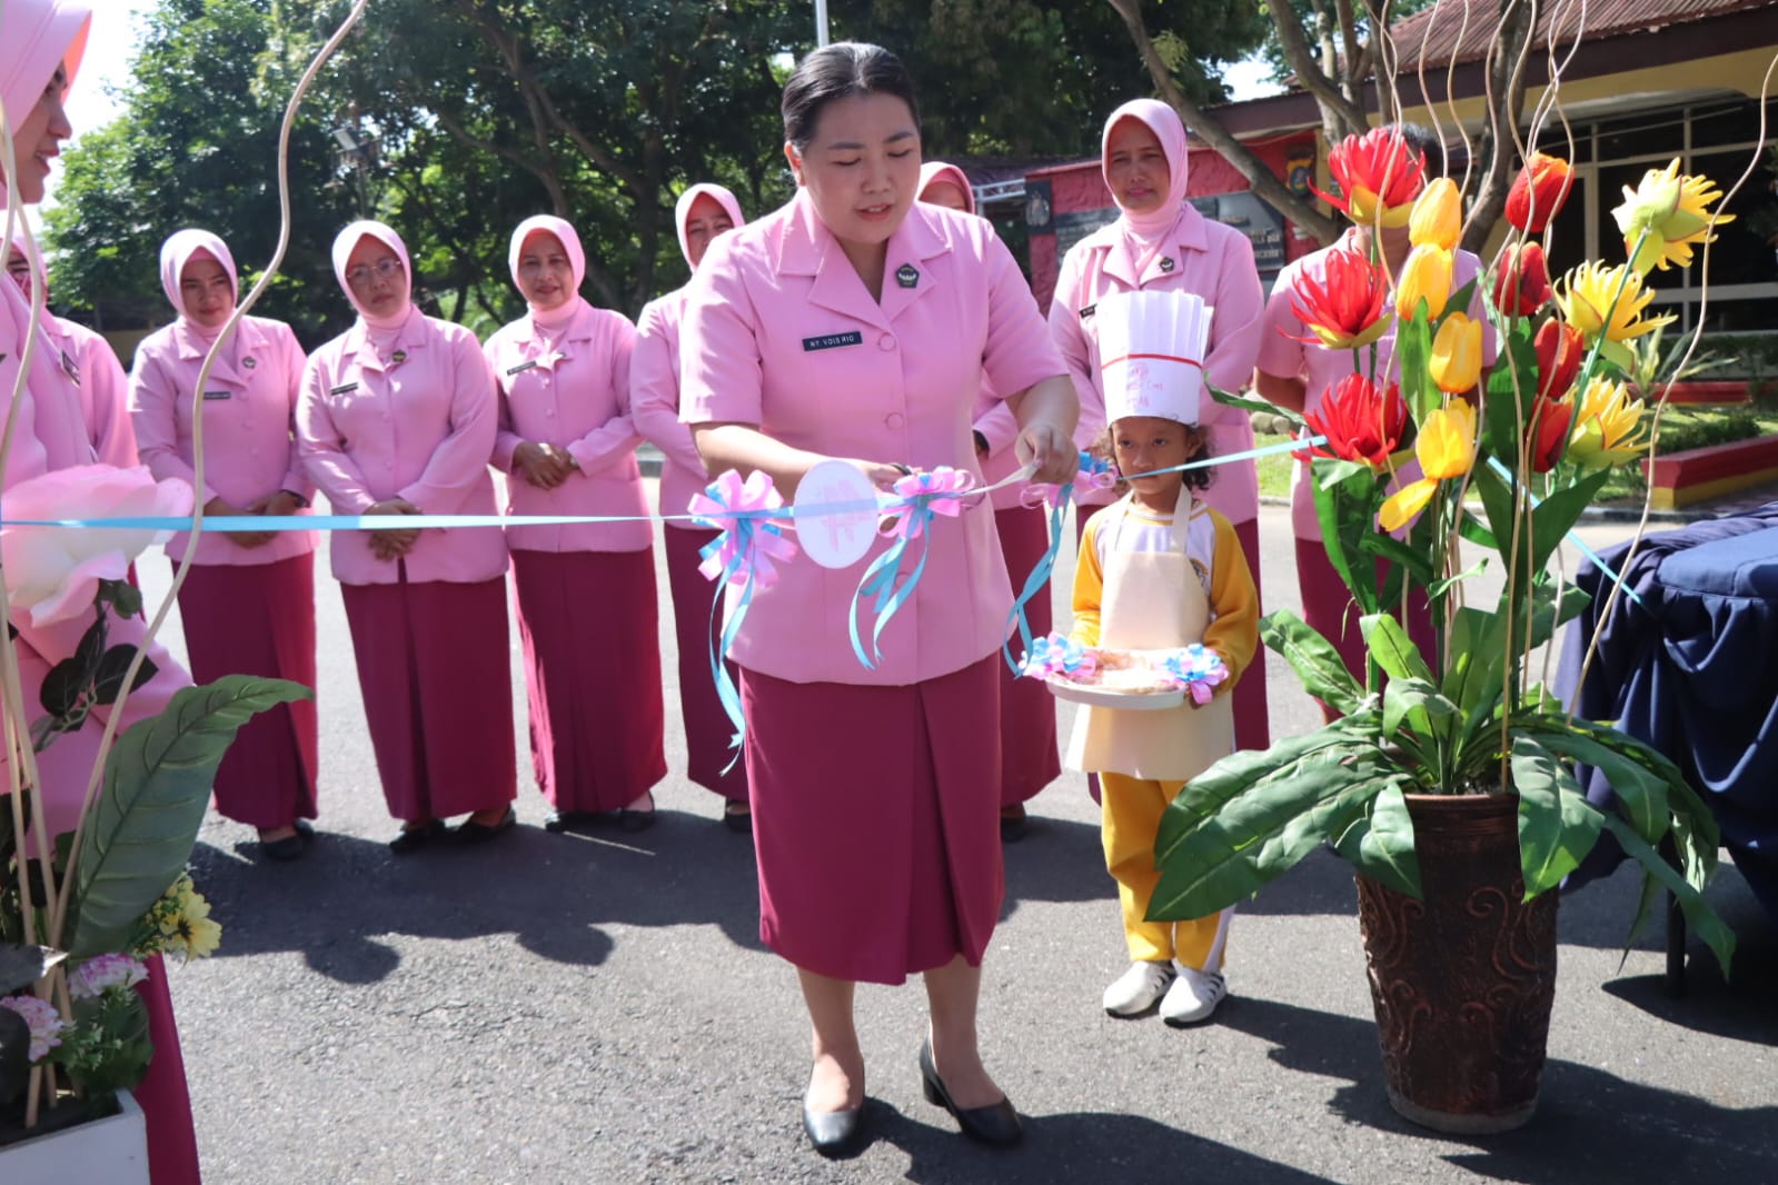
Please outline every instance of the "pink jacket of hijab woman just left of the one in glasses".
[{"label": "pink jacket of hijab woman just left of the one in glasses", "polygon": [[[130,418],[142,464],[156,478],[196,489],[192,426],[197,377],[208,343],[174,322],[135,348]],[[290,325],[244,316],[235,341],[210,368],[203,391],[204,487],[199,503],[222,497],[245,508],[277,490],[313,497],[315,483],[297,458],[292,425],[302,387],[302,346]],[[308,512],[297,512],[308,513]],[[183,560],[190,535],[174,535],[167,556]],[[204,533],[194,563],[260,565],[315,551],[313,531],[283,531],[263,547],[240,547],[228,535]]]}]

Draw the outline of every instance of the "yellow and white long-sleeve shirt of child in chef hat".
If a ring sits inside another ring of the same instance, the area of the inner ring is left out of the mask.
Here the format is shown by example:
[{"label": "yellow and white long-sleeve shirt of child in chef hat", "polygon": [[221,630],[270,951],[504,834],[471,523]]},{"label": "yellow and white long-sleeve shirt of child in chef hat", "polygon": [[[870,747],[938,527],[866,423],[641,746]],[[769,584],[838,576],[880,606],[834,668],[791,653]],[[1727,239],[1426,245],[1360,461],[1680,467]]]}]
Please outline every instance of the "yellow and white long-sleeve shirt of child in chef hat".
[{"label": "yellow and white long-sleeve shirt of child in chef hat", "polygon": [[[1125,551],[1172,551],[1173,515],[1156,513],[1129,501],[1129,524],[1118,545]],[[1099,608],[1104,604],[1106,545],[1101,528],[1117,515],[1108,506],[1086,522],[1081,537],[1081,556],[1074,565],[1074,627],[1070,636],[1085,647],[1099,645]],[[1211,602],[1211,620],[1204,627],[1204,645],[1214,650],[1229,668],[1229,679],[1216,688],[1218,695],[1234,689],[1241,672],[1259,650],[1259,590],[1246,565],[1241,540],[1216,510],[1200,501],[1191,503],[1191,521],[1186,524],[1186,556],[1204,581]]]}]

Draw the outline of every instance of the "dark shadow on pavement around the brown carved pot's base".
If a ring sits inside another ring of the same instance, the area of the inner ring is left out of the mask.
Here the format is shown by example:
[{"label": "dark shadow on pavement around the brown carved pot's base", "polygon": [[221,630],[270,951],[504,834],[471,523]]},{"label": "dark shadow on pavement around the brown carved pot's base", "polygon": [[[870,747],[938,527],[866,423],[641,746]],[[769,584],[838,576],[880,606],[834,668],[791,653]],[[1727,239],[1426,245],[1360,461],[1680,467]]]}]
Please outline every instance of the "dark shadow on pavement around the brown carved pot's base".
[{"label": "dark shadow on pavement around the brown carved pot's base", "polygon": [[[1383,1094],[1376,1027],[1364,1020],[1232,998],[1218,1023],[1271,1041],[1269,1057],[1321,1077],[1348,1078],[1330,1109],[1348,1123],[1440,1141],[1447,1160],[1479,1180],[1526,1185],[1622,1185],[1709,1174],[1723,1181],[1778,1181],[1778,1107],[1732,1109],[1552,1059],[1529,1126],[1492,1137],[1442,1137],[1399,1117]],[[1753,1066],[1750,1071],[1758,1073]]]}]

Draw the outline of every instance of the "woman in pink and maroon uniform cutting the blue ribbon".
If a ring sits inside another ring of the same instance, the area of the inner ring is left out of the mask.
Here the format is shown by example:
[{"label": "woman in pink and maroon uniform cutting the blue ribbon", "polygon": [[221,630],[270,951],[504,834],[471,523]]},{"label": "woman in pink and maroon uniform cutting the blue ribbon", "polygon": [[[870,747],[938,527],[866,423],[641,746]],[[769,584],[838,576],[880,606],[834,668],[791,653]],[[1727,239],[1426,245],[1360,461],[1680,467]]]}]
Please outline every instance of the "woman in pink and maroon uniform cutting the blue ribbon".
[{"label": "woman in pink and maroon uniform cutting the blue ribbon", "polygon": [[[1012,402],[1037,480],[1070,480],[1074,391],[1024,277],[987,222],[914,201],[919,117],[901,62],[866,44],[816,50],[782,110],[797,197],[717,240],[686,298],[681,416],[709,471],[763,471],[786,497],[827,458],[880,489],[909,467],[980,476],[971,412],[987,380]],[[965,1135],[1012,1144],[1019,1117],[976,1043],[1003,892],[1012,590],[994,510],[935,519],[875,668],[848,640],[861,572],[784,565],[731,650],[759,933],[797,966],[813,1027],[804,1128],[825,1155],[859,1146],[855,982],[925,974],[926,1098]]]}]

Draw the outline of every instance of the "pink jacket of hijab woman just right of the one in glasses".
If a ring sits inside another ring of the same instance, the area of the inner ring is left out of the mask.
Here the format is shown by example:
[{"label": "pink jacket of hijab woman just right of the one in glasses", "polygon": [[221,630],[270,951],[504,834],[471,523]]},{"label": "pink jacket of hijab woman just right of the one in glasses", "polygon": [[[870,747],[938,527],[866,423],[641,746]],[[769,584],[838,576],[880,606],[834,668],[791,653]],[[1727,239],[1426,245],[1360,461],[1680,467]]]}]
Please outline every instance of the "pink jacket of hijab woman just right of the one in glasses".
[{"label": "pink jacket of hijab woman just right of the one in glasses", "polygon": [[[581,304],[555,348],[530,316],[487,339],[484,354],[500,387],[494,464],[516,515],[628,515],[635,522],[512,526],[516,551],[647,551],[654,529],[637,467],[642,437],[629,419],[629,352],[637,330],[610,309]],[[567,481],[541,490],[512,469],[525,441],[567,449],[580,465]]]}]

